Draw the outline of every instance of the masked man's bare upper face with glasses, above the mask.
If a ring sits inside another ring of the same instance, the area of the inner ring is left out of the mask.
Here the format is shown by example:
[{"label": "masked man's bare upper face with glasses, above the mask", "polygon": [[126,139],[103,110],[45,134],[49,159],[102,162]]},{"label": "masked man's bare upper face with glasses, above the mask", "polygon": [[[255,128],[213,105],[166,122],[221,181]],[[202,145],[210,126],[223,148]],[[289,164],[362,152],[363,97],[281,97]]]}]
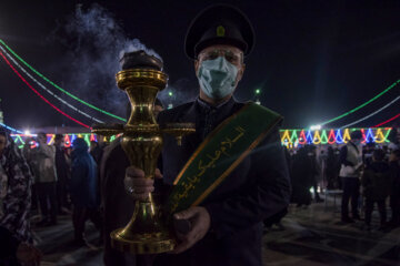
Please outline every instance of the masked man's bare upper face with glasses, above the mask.
[{"label": "masked man's bare upper face with glasses, above the mask", "polygon": [[236,79],[236,85],[238,85],[239,81],[243,76],[246,64],[243,63],[243,52],[232,45],[216,44],[203,49],[199,53],[198,59],[194,61],[196,75],[199,74],[199,69],[203,61],[213,60],[218,57],[224,57],[228,62],[237,66],[238,75]]}]

